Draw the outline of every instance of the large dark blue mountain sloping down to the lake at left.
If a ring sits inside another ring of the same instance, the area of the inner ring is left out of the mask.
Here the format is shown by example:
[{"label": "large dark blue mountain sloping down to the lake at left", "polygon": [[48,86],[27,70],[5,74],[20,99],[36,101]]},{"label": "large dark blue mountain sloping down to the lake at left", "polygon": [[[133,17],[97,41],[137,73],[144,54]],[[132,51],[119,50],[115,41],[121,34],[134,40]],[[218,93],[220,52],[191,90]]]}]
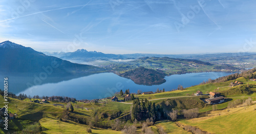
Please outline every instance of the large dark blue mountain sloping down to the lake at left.
[{"label": "large dark blue mountain sloping down to the lake at left", "polygon": [[32,48],[11,41],[0,43],[0,72],[4,73],[40,73],[67,75],[88,73],[96,66],[72,63],[53,56],[47,56]]}]

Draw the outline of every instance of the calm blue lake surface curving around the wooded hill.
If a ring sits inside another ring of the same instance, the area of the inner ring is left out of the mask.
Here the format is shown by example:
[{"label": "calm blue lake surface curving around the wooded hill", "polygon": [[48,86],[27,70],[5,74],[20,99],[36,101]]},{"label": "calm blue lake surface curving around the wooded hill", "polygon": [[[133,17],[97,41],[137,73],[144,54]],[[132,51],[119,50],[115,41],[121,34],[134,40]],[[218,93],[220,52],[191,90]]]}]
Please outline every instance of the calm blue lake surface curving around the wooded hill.
[{"label": "calm blue lake surface curving around the wooded hill", "polygon": [[[170,91],[182,85],[183,87],[189,87],[197,85],[203,81],[210,79],[216,79],[222,76],[232,74],[231,72],[209,72],[209,73],[189,73],[182,75],[172,75],[165,77],[166,82],[160,85],[138,85],[132,80],[120,77],[113,73],[101,73],[90,76],[74,78],[70,80],[46,83],[41,85],[35,85],[27,88],[24,91],[15,91],[15,86],[12,86],[12,92],[18,95],[24,93],[27,95],[39,95],[39,96],[68,96],[76,99],[99,99],[110,97],[114,93],[126,89],[130,89],[131,93],[137,93],[138,90],[142,92],[153,91],[157,88],[165,91]],[[22,79],[22,78],[19,78]],[[2,82],[2,81],[1,81]],[[2,83],[0,83],[2,84]],[[12,81],[10,84],[18,84]],[[20,84],[20,83],[19,83]],[[2,84],[3,85],[3,84]],[[1,88],[1,87],[0,87]]]}]

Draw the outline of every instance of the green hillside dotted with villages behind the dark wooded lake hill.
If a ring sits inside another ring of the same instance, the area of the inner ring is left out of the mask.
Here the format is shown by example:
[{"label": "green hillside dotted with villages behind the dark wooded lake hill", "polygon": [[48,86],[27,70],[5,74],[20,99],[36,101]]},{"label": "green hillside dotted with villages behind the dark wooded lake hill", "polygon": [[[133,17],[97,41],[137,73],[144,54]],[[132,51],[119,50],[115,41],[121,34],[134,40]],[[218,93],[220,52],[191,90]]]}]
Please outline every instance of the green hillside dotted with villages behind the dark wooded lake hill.
[{"label": "green hillside dotted with villages behind the dark wooded lake hill", "polygon": [[168,75],[216,72],[216,71],[238,71],[231,65],[218,65],[200,60],[169,58],[169,57],[142,57],[120,62],[102,62],[101,67],[123,73],[127,70],[133,70],[139,66],[147,69],[159,70]]}]

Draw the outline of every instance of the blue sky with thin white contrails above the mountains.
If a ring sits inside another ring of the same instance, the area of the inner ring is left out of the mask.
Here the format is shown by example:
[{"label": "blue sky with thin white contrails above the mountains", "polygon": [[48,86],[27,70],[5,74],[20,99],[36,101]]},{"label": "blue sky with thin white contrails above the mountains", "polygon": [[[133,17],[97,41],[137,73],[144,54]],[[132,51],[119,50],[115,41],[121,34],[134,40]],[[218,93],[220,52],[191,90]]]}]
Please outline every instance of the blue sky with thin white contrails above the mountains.
[{"label": "blue sky with thin white contrails above the mountains", "polygon": [[0,1],[0,42],[36,51],[256,52],[256,1]]}]

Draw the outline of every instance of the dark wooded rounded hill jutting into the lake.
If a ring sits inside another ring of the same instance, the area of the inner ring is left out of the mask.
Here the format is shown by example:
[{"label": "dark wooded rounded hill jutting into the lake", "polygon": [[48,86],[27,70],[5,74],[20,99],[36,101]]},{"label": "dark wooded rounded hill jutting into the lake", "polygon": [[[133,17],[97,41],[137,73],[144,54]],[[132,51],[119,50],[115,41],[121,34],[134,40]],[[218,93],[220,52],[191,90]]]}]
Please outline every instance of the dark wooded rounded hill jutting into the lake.
[{"label": "dark wooded rounded hill jutting into the lake", "polygon": [[165,75],[152,69],[145,69],[140,66],[137,69],[120,74],[121,77],[133,80],[136,84],[158,85],[164,83]]}]

